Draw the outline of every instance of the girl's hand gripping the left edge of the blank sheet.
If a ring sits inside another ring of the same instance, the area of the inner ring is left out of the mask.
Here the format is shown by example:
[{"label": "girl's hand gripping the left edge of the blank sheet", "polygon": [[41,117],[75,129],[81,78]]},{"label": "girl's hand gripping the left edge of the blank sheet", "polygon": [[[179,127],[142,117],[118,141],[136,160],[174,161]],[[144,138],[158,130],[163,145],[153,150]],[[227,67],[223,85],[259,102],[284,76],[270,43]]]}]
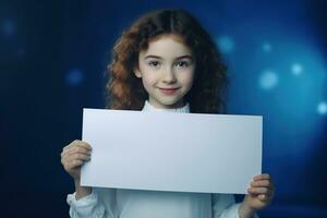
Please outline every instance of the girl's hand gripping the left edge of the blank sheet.
[{"label": "girl's hand gripping the left edge of the blank sheet", "polygon": [[74,179],[81,180],[81,167],[90,159],[92,147],[83,141],[75,140],[62,149],[61,164],[64,170]]}]

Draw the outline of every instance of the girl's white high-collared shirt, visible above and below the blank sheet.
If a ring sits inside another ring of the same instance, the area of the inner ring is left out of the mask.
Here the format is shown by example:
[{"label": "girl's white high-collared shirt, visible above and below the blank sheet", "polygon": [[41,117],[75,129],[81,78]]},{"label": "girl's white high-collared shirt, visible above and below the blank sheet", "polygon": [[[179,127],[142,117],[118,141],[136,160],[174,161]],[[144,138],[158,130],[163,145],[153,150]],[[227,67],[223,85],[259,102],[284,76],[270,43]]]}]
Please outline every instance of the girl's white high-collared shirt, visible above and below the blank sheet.
[{"label": "girl's white high-collared shirt, visible above and below the blank sheet", "polygon": [[[157,109],[145,101],[143,111],[190,112],[190,106]],[[105,187],[93,187],[78,201],[69,194],[66,202],[72,218],[239,218],[240,206],[232,194]]]}]

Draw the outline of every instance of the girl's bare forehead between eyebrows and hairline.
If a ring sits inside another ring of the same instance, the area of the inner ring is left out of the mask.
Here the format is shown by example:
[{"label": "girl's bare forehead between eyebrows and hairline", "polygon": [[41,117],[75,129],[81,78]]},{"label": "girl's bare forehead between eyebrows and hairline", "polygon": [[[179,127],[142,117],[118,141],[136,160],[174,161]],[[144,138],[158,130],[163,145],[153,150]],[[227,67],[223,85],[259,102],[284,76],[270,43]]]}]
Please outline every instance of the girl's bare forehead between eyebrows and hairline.
[{"label": "girl's bare forehead between eyebrows and hairline", "polygon": [[192,50],[177,35],[164,35],[149,41],[148,48],[141,56],[154,55],[159,57],[179,57],[192,55]]}]

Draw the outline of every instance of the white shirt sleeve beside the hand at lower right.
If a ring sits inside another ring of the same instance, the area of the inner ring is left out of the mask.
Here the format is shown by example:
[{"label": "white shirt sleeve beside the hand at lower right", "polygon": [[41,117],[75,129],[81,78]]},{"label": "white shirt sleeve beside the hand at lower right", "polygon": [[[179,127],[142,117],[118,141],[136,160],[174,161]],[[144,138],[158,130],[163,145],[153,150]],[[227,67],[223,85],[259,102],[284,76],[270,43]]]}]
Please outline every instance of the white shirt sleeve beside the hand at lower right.
[{"label": "white shirt sleeve beside the hand at lower right", "polygon": [[[232,194],[213,194],[213,216],[214,218],[240,218],[240,203],[235,203]],[[258,218],[257,214],[253,218]]]}]

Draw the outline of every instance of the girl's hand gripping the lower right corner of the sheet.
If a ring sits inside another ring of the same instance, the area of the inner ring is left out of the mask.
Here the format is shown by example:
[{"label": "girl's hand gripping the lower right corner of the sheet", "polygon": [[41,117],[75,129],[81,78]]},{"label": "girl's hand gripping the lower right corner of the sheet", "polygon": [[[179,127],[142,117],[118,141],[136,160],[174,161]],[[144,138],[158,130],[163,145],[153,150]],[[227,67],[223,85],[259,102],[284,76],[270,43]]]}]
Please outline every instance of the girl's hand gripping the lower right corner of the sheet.
[{"label": "girl's hand gripping the lower right corner of the sheet", "polygon": [[247,189],[249,194],[245,195],[241,208],[247,211],[255,211],[268,206],[274,197],[275,186],[269,174],[258,174]]}]

